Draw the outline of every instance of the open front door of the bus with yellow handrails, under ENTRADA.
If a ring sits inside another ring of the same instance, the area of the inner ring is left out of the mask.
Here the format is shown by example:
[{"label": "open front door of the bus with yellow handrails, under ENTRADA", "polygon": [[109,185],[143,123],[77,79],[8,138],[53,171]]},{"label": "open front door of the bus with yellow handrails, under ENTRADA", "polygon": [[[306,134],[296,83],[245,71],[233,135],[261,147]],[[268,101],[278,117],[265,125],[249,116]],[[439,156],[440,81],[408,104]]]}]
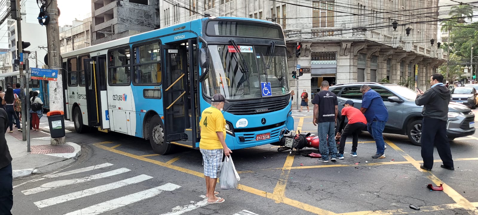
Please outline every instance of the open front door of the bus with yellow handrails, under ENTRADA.
[{"label": "open front door of the bus with yellow handrails, under ENTRADA", "polygon": [[165,141],[193,147],[185,133],[190,128],[187,43],[163,45],[163,62]]}]

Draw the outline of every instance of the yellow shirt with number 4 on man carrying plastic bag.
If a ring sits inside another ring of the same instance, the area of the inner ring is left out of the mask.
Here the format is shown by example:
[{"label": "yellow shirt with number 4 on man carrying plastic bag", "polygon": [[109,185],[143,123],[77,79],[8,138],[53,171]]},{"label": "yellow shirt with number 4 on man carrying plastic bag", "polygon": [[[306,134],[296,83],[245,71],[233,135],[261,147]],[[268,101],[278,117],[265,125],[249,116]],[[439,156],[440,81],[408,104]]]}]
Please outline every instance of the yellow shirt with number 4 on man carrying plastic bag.
[{"label": "yellow shirt with number 4 on man carrying plastic bag", "polygon": [[201,113],[201,140],[199,140],[199,148],[205,150],[222,149],[221,142],[217,138],[217,132],[224,134],[226,140],[226,119],[222,112],[216,107],[207,107]]}]

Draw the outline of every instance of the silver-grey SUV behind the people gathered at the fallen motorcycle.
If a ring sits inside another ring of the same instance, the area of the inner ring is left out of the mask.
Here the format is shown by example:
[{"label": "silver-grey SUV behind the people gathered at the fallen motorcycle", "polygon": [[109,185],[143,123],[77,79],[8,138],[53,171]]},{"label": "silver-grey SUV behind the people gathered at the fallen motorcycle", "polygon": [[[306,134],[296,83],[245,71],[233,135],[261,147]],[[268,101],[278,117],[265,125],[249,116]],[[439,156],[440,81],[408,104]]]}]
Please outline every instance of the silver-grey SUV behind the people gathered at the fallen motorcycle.
[{"label": "silver-grey SUV behind the people gathered at the fallen motorcycle", "polygon": [[[422,135],[422,108],[415,105],[416,92],[400,85],[390,83],[348,83],[330,87],[330,91],[337,95],[338,103],[350,99],[355,107],[362,104],[360,86],[369,85],[377,91],[389,111],[389,119],[385,125],[384,133],[407,135],[413,145],[420,146]],[[339,105],[339,113],[343,106]],[[446,134],[449,140],[464,137],[475,133],[475,115],[470,108],[450,103],[448,105],[448,123]]]}]

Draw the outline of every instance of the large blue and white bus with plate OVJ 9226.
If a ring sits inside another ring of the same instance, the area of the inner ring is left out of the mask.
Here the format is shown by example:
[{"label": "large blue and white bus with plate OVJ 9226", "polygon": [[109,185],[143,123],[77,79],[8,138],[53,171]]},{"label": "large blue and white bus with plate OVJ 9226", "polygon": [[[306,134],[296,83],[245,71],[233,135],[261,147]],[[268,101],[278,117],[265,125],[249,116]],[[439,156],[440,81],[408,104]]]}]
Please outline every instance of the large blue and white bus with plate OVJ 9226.
[{"label": "large blue and white bus with plate OVJ 9226", "polygon": [[150,140],[158,154],[199,147],[199,120],[216,93],[232,150],[280,141],[293,129],[286,44],[270,21],[208,17],[62,54],[65,118]]}]

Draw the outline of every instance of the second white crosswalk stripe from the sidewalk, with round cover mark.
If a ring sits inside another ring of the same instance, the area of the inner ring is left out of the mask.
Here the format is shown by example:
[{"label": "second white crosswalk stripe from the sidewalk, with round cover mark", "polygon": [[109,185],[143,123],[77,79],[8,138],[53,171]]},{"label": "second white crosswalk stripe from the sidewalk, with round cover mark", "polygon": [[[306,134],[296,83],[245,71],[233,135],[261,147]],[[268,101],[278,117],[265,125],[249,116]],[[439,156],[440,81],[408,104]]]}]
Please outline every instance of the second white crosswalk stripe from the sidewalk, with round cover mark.
[{"label": "second white crosswalk stripe from the sidewalk, with round cover mark", "polygon": [[63,186],[66,186],[66,185],[82,183],[82,182],[89,182],[91,180],[105,178],[105,177],[121,174],[121,173],[124,173],[124,172],[130,172],[130,171],[131,170],[127,169],[127,168],[120,168],[120,169],[112,170],[112,171],[109,171],[109,172],[102,172],[102,173],[99,173],[99,174],[86,176],[86,177],[83,177],[83,178],[70,179],[70,180],[59,180],[59,181],[54,181],[54,182],[50,182],[50,183],[44,183],[39,187],[35,187],[35,188],[32,188],[32,189],[28,189],[28,190],[23,190],[22,193],[25,194],[25,195],[36,194],[36,193],[40,193],[40,192],[43,192],[43,191],[55,189],[55,188],[58,188],[58,187],[63,187]]}]

